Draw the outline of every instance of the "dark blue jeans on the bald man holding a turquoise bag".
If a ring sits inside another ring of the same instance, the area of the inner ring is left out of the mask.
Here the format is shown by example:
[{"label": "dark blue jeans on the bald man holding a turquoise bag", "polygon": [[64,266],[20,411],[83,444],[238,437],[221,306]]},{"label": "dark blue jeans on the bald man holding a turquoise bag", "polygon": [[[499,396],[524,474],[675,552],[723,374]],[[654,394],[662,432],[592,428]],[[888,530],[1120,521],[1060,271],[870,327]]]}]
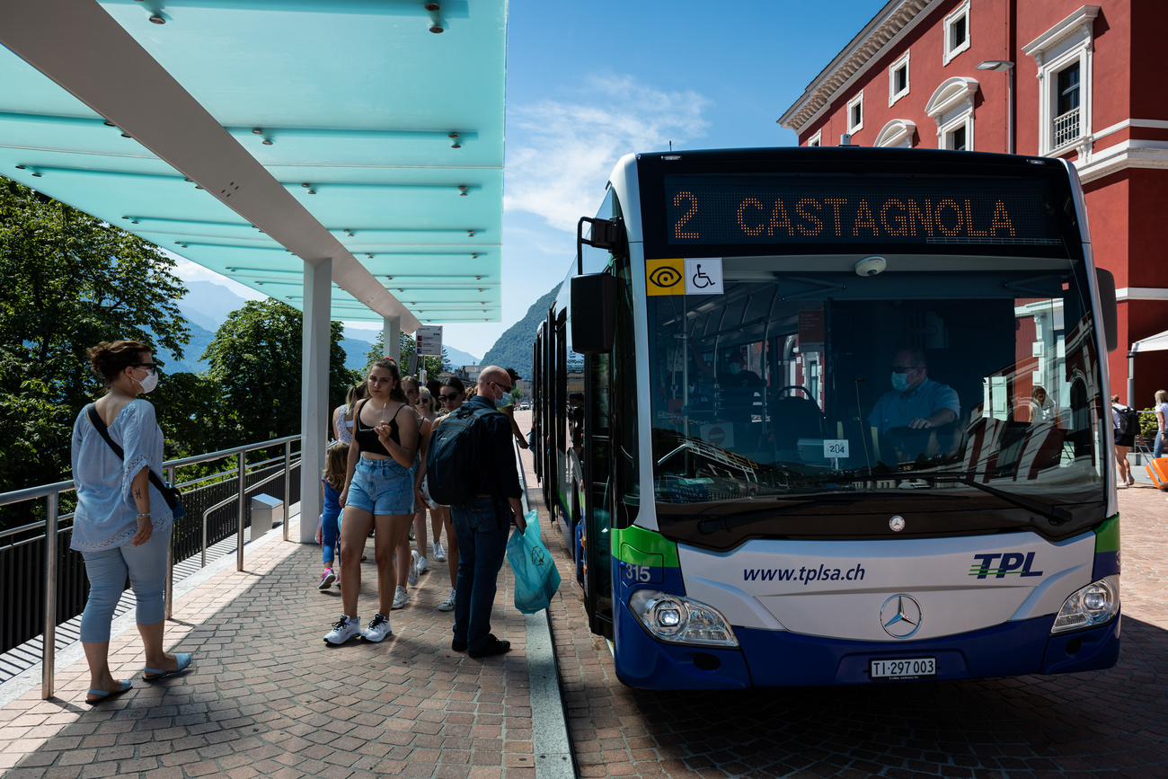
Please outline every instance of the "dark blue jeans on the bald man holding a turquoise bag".
[{"label": "dark blue jeans on the bald man holding a turquoise bag", "polygon": [[[479,649],[491,635],[491,608],[495,603],[499,569],[507,551],[508,519],[506,498],[475,498],[450,507],[451,524],[458,540],[458,583],[454,585],[454,640]],[[500,523],[502,527],[500,528]]]}]

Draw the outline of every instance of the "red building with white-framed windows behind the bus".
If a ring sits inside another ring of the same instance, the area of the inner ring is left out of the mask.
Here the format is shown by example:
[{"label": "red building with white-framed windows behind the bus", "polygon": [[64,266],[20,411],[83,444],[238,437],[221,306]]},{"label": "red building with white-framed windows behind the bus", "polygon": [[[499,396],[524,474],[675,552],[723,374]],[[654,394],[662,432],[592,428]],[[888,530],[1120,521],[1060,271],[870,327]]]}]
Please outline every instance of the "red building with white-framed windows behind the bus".
[{"label": "red building with white-framed windows behind the bus", "polygon": [[[779,119],[801,146],[1062,157],[1086,193],[1094,258],[1115,274],[1131,343],[1168,331],[1168,102],[1155,78],[1166,0],[890,0]],[[1136,357],[1138,408],[1168,389],[1168,352]]]}]

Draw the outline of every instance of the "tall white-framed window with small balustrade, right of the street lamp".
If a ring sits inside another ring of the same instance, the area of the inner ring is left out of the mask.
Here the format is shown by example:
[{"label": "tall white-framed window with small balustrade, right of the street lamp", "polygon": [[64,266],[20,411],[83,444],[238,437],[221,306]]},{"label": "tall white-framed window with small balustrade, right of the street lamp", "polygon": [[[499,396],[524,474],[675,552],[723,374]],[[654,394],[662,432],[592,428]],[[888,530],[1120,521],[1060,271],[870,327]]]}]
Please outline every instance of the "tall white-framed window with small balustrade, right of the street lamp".
[{"label": "tall white-framed window with small balustrade, right of the street lamp", "polygon": [[1091,60],[1098,6],[1083,6],[1022,47],[1038,65],[1038,153],[1091,155]]}]

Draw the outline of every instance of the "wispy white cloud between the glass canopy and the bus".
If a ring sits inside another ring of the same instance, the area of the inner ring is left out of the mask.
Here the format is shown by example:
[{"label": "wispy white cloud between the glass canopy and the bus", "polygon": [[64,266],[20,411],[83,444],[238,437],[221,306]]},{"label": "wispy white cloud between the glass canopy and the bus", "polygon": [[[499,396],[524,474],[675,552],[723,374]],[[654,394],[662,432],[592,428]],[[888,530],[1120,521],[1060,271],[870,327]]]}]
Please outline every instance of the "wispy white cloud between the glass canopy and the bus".
[{"label": "wispy white cloud between the glass canopy and the bus", "polygon": [[623,155],[680,146],[709,126],[709,102],[697,92],[662,92],[631,76],[592,77],[577,97],[512,110],[503,190],[505,209],[572,234],[596,211]]}]

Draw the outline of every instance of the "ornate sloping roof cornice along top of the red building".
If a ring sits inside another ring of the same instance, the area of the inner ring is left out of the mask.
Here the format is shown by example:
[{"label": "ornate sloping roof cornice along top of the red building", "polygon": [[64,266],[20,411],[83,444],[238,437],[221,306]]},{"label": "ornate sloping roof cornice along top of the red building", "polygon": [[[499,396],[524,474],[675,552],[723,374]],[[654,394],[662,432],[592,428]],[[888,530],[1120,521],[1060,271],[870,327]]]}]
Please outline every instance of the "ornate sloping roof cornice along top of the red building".
[{"label": "ornate sloping roof cornice along top of the red building", "polygon": [[795,132],[829,106],[833,98],[868,71],[883,51],[901,41],[941,0],[890,0],[807,85],[778,123]]}]

